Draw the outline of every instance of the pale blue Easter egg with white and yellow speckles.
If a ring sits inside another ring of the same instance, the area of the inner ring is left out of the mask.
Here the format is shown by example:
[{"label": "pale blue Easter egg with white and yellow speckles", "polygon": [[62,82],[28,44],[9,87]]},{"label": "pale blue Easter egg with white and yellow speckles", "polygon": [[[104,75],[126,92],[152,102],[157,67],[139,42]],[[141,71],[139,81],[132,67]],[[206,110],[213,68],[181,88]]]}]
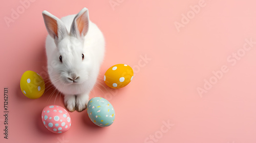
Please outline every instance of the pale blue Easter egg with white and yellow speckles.
[{"label": "pale blue Easter egg with white and yellow speckles", "polygon": [[116,116],[111,103],[101,97],[94,97],[88,102],[87,113],[91,121],[100,127],[112,125]]}]

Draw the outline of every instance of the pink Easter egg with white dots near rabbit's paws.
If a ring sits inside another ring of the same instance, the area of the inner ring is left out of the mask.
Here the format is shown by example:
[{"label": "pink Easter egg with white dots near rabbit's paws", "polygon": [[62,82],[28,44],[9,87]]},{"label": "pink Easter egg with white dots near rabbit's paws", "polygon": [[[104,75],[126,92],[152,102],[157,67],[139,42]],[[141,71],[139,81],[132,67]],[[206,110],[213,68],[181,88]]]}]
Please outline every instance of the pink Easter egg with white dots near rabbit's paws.
[{"label": "pink Easter egg with white dots near rabbit's paws", "polygon": [[59,105],[48,105],[42,110],[42,123],[53,133],[64,133],[71,126],[68,111]]}]

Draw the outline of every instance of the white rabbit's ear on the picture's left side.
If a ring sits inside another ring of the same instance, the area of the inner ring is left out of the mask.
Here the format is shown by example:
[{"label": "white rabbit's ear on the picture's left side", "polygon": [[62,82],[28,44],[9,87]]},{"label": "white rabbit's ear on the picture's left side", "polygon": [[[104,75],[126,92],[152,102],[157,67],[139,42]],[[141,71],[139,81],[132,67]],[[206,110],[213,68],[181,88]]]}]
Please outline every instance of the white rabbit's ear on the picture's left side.
[{"label": "white rabbit's ear on the picture's left side", "polygon": [[42,17],[44,17],[47,32],[53,39],[60,41],[68,35],[65,24],[56,16],[48,11],[43,11]]}]

